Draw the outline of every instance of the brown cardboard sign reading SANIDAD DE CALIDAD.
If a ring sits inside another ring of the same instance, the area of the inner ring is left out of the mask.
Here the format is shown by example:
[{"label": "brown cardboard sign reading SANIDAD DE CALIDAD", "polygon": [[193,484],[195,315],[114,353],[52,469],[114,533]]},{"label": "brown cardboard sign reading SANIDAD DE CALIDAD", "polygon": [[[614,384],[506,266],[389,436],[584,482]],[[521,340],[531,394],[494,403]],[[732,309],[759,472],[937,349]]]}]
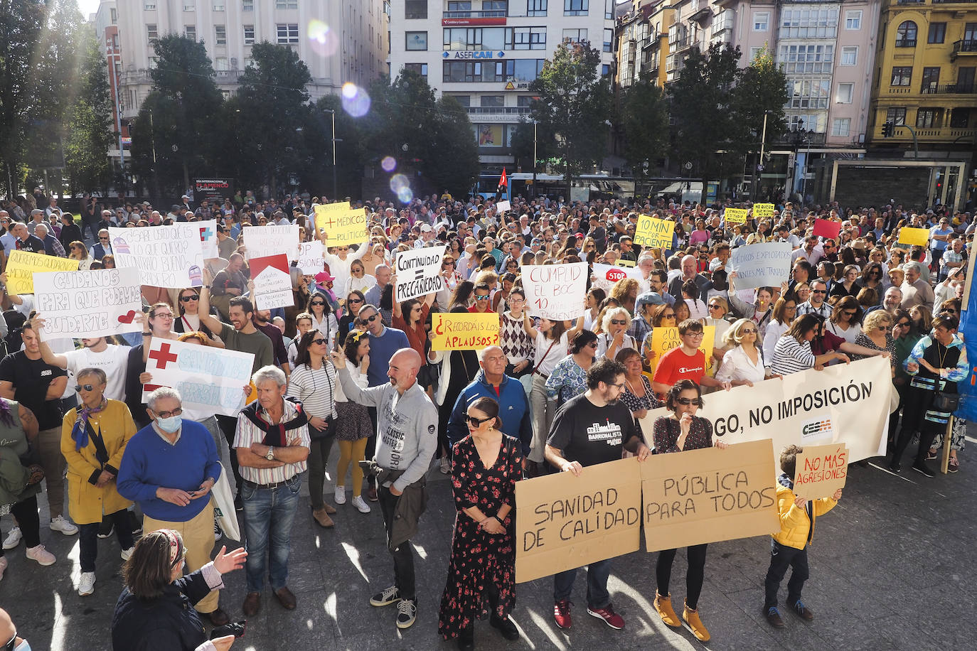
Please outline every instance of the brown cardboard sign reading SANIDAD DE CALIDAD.
[{"label": "brown cardboard sign reading SANIDAD DE CALIDAD", "polygon": [[[647,462],[646,462],[647,463]],[[572,570],[641,545],[636,459],[516,482],[516,583]]]}]

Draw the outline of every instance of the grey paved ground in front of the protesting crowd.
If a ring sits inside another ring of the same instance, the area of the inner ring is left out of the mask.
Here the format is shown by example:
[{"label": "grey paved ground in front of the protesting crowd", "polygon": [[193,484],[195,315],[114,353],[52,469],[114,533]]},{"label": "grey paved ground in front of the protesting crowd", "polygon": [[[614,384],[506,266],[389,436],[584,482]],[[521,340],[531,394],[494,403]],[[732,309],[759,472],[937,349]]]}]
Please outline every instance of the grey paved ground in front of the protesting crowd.
[{"label": "grey paved ground in front of the protesting crowd", "polygon": [[[973,443],[968,443],[973,445]],[[224,450],[227,455],[227,450]],[[804,600],[816,613],[811,623],[785,613],[786,628],[771,629],[763,618],[763,578],[770,557],[767,538],[709,546],[701,617],[712,641],[701,644],[687,628],[661,623],[655,595],[656,554],[639,550],[614,560],[610,590],[626,620],[612,631],[587,616],[582,573],[573,591],[573,628],[560,631],[552,618],[552,580],[517,588],[513,620],[523,637],[507,642],[488,622],[476,625],[480,649],[936,649],[972,648],[977,637],[977,553],[973,480],[967,463],[956,474],[929,479],[908,468],[901,475],[876,465],[850,468],[839,505],[818,519],[810,549],[811,579]],[[332,468],[338,458],[333,451]],[[227,464],[226,464],[227,466]],[[308,489],[292,531],[289,587],[298,598],[285,611],[266,588],[262,610],[247,623],[234,651],[322,651],[350,649],[455,648],[437,634],[438,607],[445,587],[454,518],[450,484],[436,468],[429,473],[430,503],[413,540],[417,556],[418,617],[399,631],[393,606],[373,608],[373,592],[392,583],[380,509],[361,514],[349,502],[322,529],[310,515]],[[329,482],[327,481],[327,487]],[[349,487],[348,487],[349,489]],[[327,488],[331,503],[331,491]],[[41,521],[47,522],[45,499]],[[4,535],[12,520],[0,522]],[[51,567],[28,561],[23,546],[7,551],[10,567],[0,582],[0,606],[7,609],[35,650],[101,651],[111,647],[112,609],[121,590],[119,548],[99,542],[95,593],[79,597],[77,537],[42,525],[41,540],[58,556]],[[223,541],[227,542],[227,541]],[[685,558],[676,556],[672,594],[684,597]],[[221,605],[242,619],[243,572],[225,577]],[[782,586],[784,598],[786,581]]]}]

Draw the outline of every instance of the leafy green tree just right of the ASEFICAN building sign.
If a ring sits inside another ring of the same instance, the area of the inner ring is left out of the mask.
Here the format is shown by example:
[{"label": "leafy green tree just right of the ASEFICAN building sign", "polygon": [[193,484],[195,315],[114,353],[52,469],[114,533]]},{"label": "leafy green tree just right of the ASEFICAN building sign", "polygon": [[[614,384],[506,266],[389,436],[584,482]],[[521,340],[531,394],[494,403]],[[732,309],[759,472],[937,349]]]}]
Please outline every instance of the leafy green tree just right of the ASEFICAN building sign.
[{"label": "leafy green tree just right of the ASEFICAN building sign", "polygon": [[607,150],[612,94],[610,82],[598,73],[600,66],[601,54],[589,43],[561,43],[530,84],[538,96],[531,104],[532,119],[553,135],[568,194],[573,178],[600,163]]}]

